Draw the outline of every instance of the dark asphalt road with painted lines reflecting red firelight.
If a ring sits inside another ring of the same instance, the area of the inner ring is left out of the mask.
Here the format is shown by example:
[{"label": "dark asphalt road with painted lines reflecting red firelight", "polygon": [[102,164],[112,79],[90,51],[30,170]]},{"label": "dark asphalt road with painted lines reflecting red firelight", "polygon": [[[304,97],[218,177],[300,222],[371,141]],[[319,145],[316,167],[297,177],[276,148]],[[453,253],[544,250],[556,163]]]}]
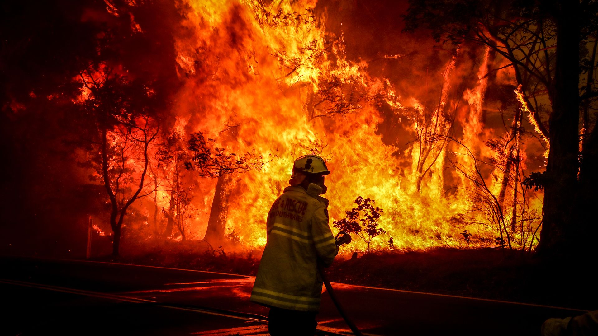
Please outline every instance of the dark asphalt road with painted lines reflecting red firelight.
[{"label": "dark asphalt road with painted lines reflecting red firelight", "polygon": [[[254,277],[173,268],[0,258],[0,335],[267,335]],[[370,335],[539,335],[549,317],[584,310],[332,283]],[[349,328],[328,294],[322,334]]]}]

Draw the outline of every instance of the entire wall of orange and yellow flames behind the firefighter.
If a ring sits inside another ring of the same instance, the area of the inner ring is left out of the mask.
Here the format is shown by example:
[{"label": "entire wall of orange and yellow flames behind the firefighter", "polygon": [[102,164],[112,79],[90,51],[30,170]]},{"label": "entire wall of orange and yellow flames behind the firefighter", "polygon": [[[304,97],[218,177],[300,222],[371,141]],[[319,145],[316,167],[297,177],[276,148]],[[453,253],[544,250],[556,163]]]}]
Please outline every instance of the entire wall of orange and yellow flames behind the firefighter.
[{"label": "entire wall of orange and yellow flames behind the firefighter", "polygon": [[[332,172],[325,195],[331,224],[358,196],[384,209],[379,225],[386,233],[371,242],[373,249],[389,248],[390,237],[399,249],[536,245],[541,195],[521,185],[521,174],[541,145],[510,145],[505,139],[519,135],[485,102],[491,63],[504,61],[481,47],[438,51],[434,65],[417,70],[421,81],[405,88],[401,74],[372,69],[379,61],[347,56],[342,31],[326,26],[334,14],[316,5],[179,4],[185,15],[175,47],[184,85],[172,106],[172,134],[187,143],[200,132],[211,157],[224,155],[248,169],[201,177],[185,169],[193,162],[185,150],[160,161],[155,143],[148,196],[134,206],[149,222],[152,216],[162,226],[169,216],[178,220],[185,239],[202,239],[220,222],[228,239],[264,246],[266,215],[288,185],[292,161],[311,152],[328,160]],[[385,62],[404,58],[380,56]],[[514,83],[508,68],[493,81]],[[520,112],[508,111],[514,119],[504,120],[520,128],[517,115],[531,112],[517,106]],[[110,139],[118,136],[114,130]],[[544,160],[539,157],[535,164]],[[127,164],[142,170],[137,159]],[[173,190],[188,202],[173,206]],[[465,230],[471,239],[463,239]],[[364,250],[365,243],[355,240],[350,249]]]}]

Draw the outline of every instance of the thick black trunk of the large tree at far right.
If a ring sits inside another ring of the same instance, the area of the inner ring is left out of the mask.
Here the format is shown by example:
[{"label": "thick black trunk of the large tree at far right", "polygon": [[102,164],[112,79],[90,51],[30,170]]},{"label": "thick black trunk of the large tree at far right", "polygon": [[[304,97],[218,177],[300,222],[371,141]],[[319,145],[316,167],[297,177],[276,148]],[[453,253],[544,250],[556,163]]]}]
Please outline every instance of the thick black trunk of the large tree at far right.
[{"label": "thick black trunk of the large tree at far right", "polygon": [[550,88],[553,112],[548,121],[550,153],[538,245],[538,252],[548,258],[569,255],[578,245],[579,2],[563,0],[557,7],[556,74]]}]

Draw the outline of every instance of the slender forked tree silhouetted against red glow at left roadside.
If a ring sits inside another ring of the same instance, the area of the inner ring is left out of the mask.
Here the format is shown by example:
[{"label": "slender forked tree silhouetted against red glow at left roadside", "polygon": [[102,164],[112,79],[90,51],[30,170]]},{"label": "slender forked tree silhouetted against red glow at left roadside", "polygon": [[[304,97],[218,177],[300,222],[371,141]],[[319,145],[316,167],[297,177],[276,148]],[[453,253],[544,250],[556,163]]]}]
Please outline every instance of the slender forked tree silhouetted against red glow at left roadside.
[{"label": "slender forked tree silhouetted against red glow at left roadside", "polygon": [[124,216],[135,200],[145,196],[141,191],[149,149],[160,129],[152,117],[152,90],[147,83],[129,81],[104,67],[88,68],[80,78],[86,95],[80,106],[93,127],[91,165],[108,194],[112,255],[118,256]]}]

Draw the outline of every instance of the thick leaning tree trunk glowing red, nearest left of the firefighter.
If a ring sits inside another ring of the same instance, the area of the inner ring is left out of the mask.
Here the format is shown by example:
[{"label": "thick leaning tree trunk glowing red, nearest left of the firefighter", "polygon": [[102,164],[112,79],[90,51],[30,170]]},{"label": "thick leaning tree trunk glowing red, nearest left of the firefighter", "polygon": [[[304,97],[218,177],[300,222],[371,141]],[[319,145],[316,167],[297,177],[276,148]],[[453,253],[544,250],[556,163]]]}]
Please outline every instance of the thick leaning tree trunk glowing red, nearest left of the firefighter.
[{"label": "thick leaning tree trunk glowing red, nearest left of the firefighter", "polygon": [[216,182],[216,191],[212,201],[212,210],[208,219],[208,228],[203,237],[212,246],[217,246],[224,242],[224,230],[226,228],[226,219],[228,214],[228,197],[230,197],[231,187],[233,187],[233,176],[224,174]]}]

